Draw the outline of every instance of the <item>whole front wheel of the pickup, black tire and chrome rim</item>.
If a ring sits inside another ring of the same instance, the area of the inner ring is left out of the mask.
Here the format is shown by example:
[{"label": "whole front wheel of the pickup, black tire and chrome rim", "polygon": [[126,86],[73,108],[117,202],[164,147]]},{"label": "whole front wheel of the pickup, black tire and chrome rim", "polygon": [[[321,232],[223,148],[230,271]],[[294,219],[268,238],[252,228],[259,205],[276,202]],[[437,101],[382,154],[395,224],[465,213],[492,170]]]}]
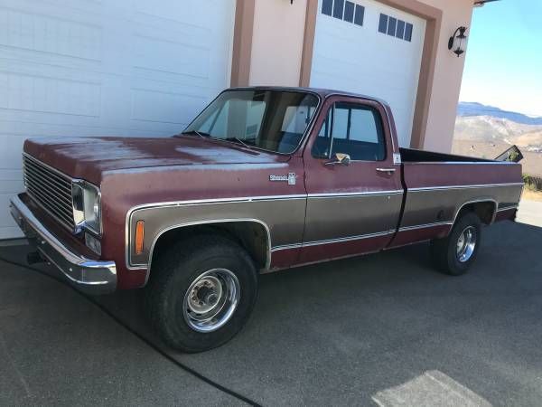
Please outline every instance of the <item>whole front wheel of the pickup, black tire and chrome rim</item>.
[{"label": "whole front wheel of the pickup, black tire and chrome rim", "polygon": [[163,251],[154,264],[145,309],[169,345],[202,352],[245,325],[257,298],[257,270],[235,241],[194,236]]}]

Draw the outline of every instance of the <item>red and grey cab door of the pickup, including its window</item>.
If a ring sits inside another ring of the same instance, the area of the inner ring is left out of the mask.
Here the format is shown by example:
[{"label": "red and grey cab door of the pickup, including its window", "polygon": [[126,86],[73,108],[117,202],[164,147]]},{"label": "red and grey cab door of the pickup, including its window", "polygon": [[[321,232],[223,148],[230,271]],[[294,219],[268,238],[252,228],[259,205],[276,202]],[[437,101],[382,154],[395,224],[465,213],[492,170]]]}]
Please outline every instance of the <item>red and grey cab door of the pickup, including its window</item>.
[{"label": "red and grey cab door of the pickup, including its window", "polygon": [[370,100],[327,99],[304,150],[308,199],[301,263],[379,251],[391,240],[403,190],[386,117],[382,105]]}]

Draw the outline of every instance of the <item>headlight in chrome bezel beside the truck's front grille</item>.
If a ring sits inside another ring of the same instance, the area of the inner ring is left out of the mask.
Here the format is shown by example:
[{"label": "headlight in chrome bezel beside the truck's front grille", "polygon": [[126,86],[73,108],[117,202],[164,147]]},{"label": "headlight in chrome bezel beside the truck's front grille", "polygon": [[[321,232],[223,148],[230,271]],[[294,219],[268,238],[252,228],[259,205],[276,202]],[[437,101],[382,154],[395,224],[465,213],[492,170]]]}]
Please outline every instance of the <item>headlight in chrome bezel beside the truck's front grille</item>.
[{"label": "headlight in chrome bezel beside the truck's front grille", "polygon": [[101,204],[97,186],[83,180],[74,180],[71,184],[73,201],[73,220],[76,232],[87,229],[101,234]]}]

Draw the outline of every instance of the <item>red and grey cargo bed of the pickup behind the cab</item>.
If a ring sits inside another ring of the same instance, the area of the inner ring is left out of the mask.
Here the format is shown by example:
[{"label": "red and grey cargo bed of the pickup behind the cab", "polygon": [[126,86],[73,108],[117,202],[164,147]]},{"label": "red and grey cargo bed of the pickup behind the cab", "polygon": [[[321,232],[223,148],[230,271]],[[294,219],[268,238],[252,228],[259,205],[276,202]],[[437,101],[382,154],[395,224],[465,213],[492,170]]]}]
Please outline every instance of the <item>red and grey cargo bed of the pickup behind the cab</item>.
[{"label": "red and grey cargo bed of the pickup behind the cab", "polygon": [[410,148],[400,153],[405,196],[394,246],[446,236],[469,204],[484,203],[478,214],[487,224],[515,215],[523,188],[519,164]]}]

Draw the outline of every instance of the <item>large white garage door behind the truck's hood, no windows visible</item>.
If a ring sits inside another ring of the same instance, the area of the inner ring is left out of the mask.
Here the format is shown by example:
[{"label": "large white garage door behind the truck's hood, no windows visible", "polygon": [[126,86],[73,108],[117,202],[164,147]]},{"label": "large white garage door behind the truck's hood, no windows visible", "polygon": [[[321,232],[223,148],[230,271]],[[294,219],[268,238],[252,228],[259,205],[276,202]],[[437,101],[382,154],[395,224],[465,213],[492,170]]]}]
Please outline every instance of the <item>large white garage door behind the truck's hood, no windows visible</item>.
[{"label": "large white garage door behind the truck's hood, no windows visible", "polygon": [[172,135],[229,86],[235,0],[0,0],[0,239],[35,136]]}]

